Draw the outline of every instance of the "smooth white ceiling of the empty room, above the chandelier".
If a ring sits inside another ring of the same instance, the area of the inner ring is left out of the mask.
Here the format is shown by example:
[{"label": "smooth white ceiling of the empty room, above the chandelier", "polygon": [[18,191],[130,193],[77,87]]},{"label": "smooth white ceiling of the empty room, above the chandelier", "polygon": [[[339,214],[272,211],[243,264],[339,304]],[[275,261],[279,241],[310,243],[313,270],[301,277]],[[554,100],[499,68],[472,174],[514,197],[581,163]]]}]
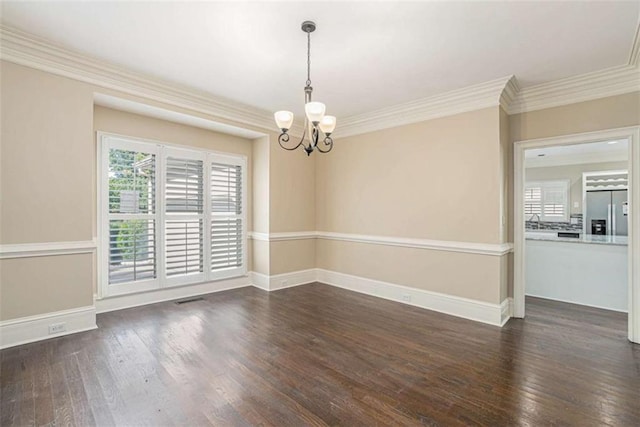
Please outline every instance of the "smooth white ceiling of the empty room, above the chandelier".
[{"label": "smooth white ceiling of the empty room, above the chandelier", "polygon": [[521,87],[628,62],[640,2],[1,2],[5,25],[265,110],[340,117],[514,74]]}]

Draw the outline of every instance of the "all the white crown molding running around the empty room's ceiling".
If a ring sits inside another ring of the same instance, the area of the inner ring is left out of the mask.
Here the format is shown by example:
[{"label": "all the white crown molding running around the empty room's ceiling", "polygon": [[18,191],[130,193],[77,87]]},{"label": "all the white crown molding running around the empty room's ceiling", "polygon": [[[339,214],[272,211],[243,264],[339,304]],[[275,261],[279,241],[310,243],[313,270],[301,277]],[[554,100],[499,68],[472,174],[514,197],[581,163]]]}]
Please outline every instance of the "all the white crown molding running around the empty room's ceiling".
[{"label": "all the white crown molding running around the empty room's ceiling", "polygon": [[[368,113],[339,118],[337,138],[500,105],[509,114],[640,91],[640,27],[629,63],[520,89],[514,76],[422,98]],[[252,130],[277,132],[269,111],[133,72],[68,50],[29,33],[0,25],[0,59],[91,83],[102,88],[185,108]],[[299,137],[296,123],[290,130]]]}]

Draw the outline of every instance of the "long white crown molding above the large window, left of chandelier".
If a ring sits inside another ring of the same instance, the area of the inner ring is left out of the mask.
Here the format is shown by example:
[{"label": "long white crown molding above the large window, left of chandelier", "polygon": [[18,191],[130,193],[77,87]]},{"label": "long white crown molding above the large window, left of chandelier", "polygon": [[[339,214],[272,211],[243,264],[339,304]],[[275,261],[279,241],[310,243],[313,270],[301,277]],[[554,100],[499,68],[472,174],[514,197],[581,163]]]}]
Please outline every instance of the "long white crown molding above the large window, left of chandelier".
[{"label": "long white crown molding above the large window, left of chandelier", "polygon": [[0,25],[0,59],[218,119],[274,129],[268,111],[137,73],[5,25]]}]

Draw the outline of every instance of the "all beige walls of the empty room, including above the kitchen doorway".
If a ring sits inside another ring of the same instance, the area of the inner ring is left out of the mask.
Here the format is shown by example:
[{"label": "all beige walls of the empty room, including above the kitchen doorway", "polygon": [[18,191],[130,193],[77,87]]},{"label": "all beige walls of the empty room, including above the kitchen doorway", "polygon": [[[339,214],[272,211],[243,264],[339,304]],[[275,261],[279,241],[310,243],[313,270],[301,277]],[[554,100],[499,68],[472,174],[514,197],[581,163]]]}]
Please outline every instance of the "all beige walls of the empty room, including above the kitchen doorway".
[{"label": "all beige walls of the empty room, including above the kitchen doorway", "polygon": [[[640,124],[640,93],[511,117],[492,107],[338,139],[330,155],[308,158],[282,150],[276,134],[249,142],[100,107],[94,117],[99,91],[238,125],[15,64],[1,67],[3,244],[93,238],[94,129],[247,155],[255,231],[497,244],[513,235],[513,141]],[[322,239],[253,241],[250,249],[254,270],[263,274],[317,266],[491,303],[511,292],[511,256]],[[0,268],[2,320],[93,303],[91,255],[3,260]]]}]

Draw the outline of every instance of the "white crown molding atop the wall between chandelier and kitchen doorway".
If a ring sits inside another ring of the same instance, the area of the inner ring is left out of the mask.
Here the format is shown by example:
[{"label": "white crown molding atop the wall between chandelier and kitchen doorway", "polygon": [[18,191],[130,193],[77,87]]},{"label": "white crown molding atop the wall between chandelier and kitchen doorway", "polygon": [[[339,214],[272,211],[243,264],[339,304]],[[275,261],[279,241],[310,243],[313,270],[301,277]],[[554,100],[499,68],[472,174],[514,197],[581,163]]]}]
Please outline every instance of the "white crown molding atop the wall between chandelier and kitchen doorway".
[{"label": "white crown molding atop the wall between chandelier and kitchen doorway", "polygon": [[[513,76],[503,77],[441,95],[346,117],[338,124],[336,138],[497,106],[513,96],[512,91],[517,88],[517,84],[512,80]],[[505,90],[507,86],[509,90]]]}]

